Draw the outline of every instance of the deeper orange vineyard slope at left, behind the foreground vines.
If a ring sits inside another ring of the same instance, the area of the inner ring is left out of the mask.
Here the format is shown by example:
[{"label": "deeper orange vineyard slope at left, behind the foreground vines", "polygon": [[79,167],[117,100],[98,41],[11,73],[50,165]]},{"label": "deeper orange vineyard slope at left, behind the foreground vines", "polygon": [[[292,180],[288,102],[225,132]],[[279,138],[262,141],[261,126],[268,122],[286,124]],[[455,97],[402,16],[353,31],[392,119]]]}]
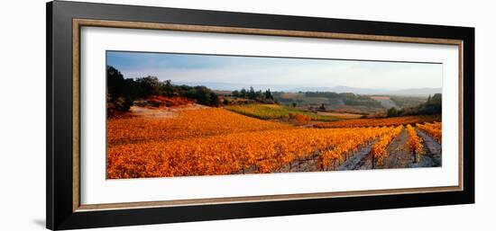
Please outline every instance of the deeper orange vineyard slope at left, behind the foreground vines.
[{"label": "deeper orange vineyard slope at left, behind the foreground vines", "polygon": [[180,111],[177,116],[167,119],[131,117],[107,120],[107,144],[114,146],[292,128],[288,124],[257,120],[221,108],[207,108]]}]

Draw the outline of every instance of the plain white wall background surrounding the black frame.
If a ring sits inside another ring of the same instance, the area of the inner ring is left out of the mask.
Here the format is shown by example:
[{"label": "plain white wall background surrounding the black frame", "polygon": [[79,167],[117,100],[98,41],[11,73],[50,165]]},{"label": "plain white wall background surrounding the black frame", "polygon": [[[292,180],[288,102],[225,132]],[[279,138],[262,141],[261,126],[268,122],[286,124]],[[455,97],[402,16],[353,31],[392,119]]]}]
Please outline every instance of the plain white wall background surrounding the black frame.
[{"label": "plain white wall background surrounding the black frame", "polygon": [[[106,230],[445,230],[496,227],[493,144],[495,5],[491,1],[101,0],[250,13],[473,26],[476,28],[476,204],[278,218],[192,222]],[[42,230],[45,219],[45,1],[0,10],[0,229]]]}]

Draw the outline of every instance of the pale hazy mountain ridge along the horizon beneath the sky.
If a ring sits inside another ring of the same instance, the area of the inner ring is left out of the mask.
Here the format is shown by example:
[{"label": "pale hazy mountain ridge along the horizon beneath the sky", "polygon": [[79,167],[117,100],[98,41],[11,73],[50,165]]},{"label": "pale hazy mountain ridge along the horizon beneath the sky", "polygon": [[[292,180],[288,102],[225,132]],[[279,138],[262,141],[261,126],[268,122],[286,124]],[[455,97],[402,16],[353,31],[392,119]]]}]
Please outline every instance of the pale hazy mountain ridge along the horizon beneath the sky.
[{"label": "pale hazy mountain ridge along the horizon beneath the sky", "polygon": [[234,91],[241,90],[242,88],[248,89],[253,86],[255,91],[271,89],[272,92],[287,92],[287,93],[299,93],[299,92],[333,92],[333,93],[357,93],[357,94],[389,94],[389,95],[428,95],[435,93],[442,93],[442,88],[406,88],[400,90],[390,90],[390,89],[376,89],[376,88],[360,88],[351,86],[295,86],[295,85],[285,85],[285,84],[231,84],[231,83],[201,83],[201,82],[172,82],[172,84],[187,84],[187,85],[204,85],[212,90],[218,91]]}]

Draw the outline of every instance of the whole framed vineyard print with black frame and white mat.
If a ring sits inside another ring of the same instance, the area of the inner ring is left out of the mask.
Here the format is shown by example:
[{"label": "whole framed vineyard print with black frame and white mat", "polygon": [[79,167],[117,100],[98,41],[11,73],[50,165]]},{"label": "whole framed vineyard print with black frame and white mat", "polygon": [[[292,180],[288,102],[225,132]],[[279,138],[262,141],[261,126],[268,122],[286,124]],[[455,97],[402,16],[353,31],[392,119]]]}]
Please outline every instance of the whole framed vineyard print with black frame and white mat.
[{"label": "whole framed vineyard print with black frame and white mat", "polygon": [[47,4],[47,227],[474,202],[474,29]]}]

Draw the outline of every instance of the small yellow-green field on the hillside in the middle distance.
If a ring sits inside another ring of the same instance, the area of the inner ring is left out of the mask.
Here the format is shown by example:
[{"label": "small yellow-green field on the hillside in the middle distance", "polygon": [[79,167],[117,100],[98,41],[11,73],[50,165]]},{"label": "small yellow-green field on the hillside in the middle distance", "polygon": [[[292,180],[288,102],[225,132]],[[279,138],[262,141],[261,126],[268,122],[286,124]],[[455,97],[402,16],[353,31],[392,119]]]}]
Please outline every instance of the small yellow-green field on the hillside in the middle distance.
[{"label": "small yellow-green field on the hillside in the middle distance", "polygon": [[337,120],[334,116],[317,115],[317,113],[311,111],[304,111],[298,108],[291,108],[277,104],[234,105],[234,106],[228,106],[226,107],[226,109],[262,120],[288,119],[289,114],[306,115],[311,120],[325,120],[325,121]]}]

